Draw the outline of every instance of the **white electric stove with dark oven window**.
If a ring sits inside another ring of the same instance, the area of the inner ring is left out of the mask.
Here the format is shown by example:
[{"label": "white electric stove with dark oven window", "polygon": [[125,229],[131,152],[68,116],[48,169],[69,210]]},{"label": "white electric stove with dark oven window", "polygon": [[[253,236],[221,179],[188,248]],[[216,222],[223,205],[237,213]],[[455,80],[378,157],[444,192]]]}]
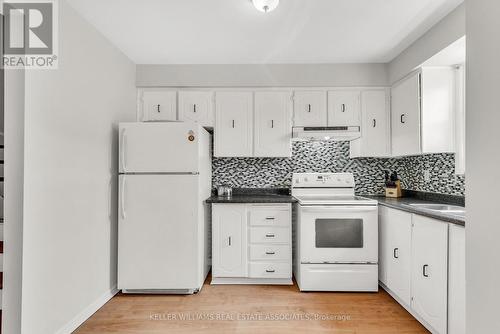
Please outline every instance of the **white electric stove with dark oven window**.
[{"label": "white electric stove with dark oven window", "polygon": [[297,173],[294,275],[301,291],[378,291],[378,204],[351,173]]}]

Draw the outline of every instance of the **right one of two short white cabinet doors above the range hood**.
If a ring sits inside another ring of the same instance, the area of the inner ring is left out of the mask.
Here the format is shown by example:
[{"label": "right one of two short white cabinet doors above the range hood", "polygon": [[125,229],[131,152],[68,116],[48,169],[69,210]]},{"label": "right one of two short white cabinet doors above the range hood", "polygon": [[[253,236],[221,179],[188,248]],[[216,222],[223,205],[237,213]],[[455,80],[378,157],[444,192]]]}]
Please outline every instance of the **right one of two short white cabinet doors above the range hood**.
[{"label": "right one of two short white cabinet doors above the range hood", "polygon": [[328,126],[361,126],[360,91],[328,92]]}]

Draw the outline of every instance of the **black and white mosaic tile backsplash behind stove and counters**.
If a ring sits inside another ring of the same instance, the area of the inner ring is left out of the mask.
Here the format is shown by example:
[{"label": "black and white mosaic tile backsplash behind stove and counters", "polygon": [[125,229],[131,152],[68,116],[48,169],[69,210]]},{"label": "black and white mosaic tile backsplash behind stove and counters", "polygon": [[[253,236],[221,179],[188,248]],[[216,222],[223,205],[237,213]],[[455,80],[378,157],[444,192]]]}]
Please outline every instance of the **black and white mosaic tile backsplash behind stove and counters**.
[{"label": "black and white mosaic tile backsplash behind stove and counters", "polygon": [[[404,189],[460,196],[465,193],[465,178],[455,175],[453,154],[351,159],[348,142],[294,142],[291,158],[213,158],[212,181],[214,187],[290,187],[293,173],[351,172],[356,193],[377,195],[384,192],[384,170],[397,171]],[[430,182],[424,181],[426,170]]]}]

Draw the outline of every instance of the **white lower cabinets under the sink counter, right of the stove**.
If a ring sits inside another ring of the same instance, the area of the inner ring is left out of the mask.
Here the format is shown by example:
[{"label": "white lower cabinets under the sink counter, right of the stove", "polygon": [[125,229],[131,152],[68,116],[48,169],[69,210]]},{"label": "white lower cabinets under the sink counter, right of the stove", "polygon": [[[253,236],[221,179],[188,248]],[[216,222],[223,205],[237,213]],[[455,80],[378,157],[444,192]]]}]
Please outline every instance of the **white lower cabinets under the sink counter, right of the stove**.
[{"label": "white lower cabinets under the sink counter, right of the stove", "polygon": [[382,286],[431,332],[465,333],[464,229],[397,209],[379,212]]}]

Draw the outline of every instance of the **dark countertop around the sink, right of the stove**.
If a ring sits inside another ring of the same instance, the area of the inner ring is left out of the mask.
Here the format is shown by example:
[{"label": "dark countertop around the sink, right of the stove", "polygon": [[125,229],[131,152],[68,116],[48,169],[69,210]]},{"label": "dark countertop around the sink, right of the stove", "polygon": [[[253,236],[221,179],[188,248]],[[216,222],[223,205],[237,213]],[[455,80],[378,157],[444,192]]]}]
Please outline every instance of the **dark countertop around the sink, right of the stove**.
[{"label": "dark countertop around the sink, right of the stove", "polygon": [[460,203],[450,203],[446,200],[432,200],[432,199],[420,199],[415,197],[401,197],[401,198],[387,198],[383,196],[364,196],[372,198],[378,201],[379,205],[383,205],[389,208],[398,209],[406,211],[409,213],[415,213],[417,215],[434,218],[442,220],[448,223],[465,226],[465,217],[455,216],[446,213],[440,213],[436,211],[430,211],[428,209],[422,209],[418,207],[411,206],[410,204],[445,204],[445,205],[457,205]]}]

